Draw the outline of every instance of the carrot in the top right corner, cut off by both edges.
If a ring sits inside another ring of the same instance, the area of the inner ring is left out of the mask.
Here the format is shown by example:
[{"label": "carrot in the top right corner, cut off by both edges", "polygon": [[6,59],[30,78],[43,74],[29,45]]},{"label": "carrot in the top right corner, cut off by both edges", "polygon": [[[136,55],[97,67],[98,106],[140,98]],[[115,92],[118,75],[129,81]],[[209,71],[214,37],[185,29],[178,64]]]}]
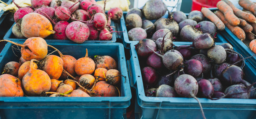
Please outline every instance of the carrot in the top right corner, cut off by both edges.
[{"label": "carrot in the top right corner, cut off by both edges", "polygon": [[256,4],[250,0],[239,0],[239,5],[244,9],[251,11],[254,15],[256,15]]}]

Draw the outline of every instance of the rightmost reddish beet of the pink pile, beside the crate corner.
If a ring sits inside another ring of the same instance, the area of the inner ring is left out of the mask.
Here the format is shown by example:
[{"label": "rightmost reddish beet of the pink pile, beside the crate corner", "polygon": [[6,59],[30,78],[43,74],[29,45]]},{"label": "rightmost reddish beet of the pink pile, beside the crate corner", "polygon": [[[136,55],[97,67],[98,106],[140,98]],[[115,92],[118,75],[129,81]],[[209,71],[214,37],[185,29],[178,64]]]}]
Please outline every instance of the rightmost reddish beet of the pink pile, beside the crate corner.
[{"label": "rightmost reddish beet of the pink pile, beside the crate corner", "polygon": [[108,11],[108,16],[111,17],[111,20],[120,20],[122,17],[122,9],[119,7],[111,8]]}]

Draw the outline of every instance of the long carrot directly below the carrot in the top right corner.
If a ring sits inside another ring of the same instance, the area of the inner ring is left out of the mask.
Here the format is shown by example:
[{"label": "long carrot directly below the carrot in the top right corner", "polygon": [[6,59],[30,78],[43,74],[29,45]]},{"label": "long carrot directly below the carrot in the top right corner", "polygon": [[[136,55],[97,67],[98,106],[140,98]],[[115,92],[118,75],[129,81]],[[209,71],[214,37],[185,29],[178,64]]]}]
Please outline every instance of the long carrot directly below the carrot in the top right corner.
[{"label": "long carrot directly below the carrot in the top right corner", "polygon": [[[239,8],[236,8],[233,5],[233,3],[231,3],[229,0],[222,0],[222,1],[227,3],[233,9],[233,12],[237,17],[239,17],[243,20],[246,20],[247,22],[250,22],[250,23],[256,23],[256,17],[253,14],[247,13],[245,11],[241,11]],[[241,22],[241,20],[240,20],[240,22]]]}]

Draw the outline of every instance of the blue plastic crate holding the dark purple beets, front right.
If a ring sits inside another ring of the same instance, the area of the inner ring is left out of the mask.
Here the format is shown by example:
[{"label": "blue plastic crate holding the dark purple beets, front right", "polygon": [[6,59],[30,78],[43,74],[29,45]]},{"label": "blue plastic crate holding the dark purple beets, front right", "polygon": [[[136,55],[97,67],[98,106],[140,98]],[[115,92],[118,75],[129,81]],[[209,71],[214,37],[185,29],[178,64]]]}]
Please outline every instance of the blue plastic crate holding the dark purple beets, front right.
[{"label": "blue plastic crate holding the dark purple beets, front right", "polygon": [[[189,42],[178,43],[175,45],[189,45]],[[198,102],[193,98],[145,96],[140,62],[134,46],[136,44],[131,43],[131,59],[128,61],[130,84],[137,90],[135,117],[140,119],[202,119]],[[220,44],[216,43],[216,45]],[[238,51],[236,48],[234,50]],[[256,81],[256,70],[248,60],[245,60],[244,74],[244,79],[248,82]],[[199,98],[199,100],[207,119],[256,119],[256,99]]]}]

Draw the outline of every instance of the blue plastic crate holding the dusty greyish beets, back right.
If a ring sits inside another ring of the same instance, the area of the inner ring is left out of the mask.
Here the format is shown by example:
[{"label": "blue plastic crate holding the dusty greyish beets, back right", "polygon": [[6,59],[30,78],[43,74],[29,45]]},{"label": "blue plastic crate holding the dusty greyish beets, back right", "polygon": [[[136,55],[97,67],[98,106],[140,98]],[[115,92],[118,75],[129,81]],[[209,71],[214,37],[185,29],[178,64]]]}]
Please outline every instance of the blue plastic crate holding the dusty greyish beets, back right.
[{"label": "blue plastic crate holding the dusty greyish beets, back right", "polygon": [[[216,11],[217,10],[217,8],[209,8],[211,11]],[[122,32],[122,40],[123,40],[123,44],[124,44],[124,46],[125,46],[125,48],[128,48],[128,49],[130,49],[130,44],[131,43],[138,43],[139,41],[131,41],[131,40],[129,40],[129,37],[128,37],[128,31],[127,31],[127,29],[126,29],[126,25],[125,25],[125,15],[126,15],[127,13],[124,13],[123,14],[123,16],[121,17],[121,30],[123,31]],[[188,16],[188,14],[186,14],[187,16]],[[163,16],[164,18],[167,18],[168,17],[168,14],[165,14],[164,16]],[[143,19],[145,19],[145,18],[143,18]],[[207,19],[206,19],[207,20]],[[156,20],[151,20],[151,22],[155,22]],[[217,32],[217,37],[219,37],[219,31]],[[226,40],[224,40],[224,39],[217,39],[215,42],[227,42]],[[175,43],[175,42],[174,42]],[[191,42],[190,42],[191,43]]]}]

